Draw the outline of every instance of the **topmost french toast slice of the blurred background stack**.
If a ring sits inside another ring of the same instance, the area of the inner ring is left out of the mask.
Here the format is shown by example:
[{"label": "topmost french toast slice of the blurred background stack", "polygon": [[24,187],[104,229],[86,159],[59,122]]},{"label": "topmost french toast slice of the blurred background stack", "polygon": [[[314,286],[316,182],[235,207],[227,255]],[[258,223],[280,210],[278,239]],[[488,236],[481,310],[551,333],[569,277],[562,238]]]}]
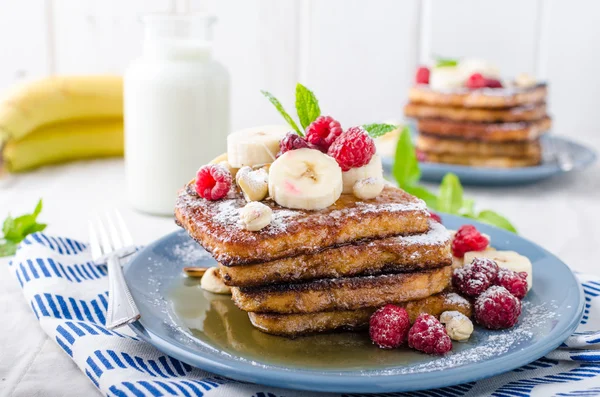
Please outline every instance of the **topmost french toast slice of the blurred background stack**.
[{"label": "topmost french toast slice of the blurred background stack", "polygon": [[545,102],[548,90],[545,83],[532,87],[517,88],[468,88],[436,91],[427,85],[417,85],[408,91],[408,99],[413,103],[433,106],[453,106],[467,108],[510,108],[529,103]]}]

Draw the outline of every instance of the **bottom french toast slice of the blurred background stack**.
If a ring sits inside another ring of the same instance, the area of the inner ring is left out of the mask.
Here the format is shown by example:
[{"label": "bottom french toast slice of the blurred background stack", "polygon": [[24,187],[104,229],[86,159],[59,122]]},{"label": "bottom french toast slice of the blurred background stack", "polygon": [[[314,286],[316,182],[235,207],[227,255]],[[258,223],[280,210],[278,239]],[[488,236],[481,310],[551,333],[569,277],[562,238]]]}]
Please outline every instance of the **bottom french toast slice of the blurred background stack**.
[{"label": "bottom french toast slice of the blurred background stack", "polygon": [[531,167],[542,162],[541,155],[529,157],[480,156],[454,153],[430,153],[423,151],[425,158],[431,163],[468,165],[471,167],[518,168]]}]

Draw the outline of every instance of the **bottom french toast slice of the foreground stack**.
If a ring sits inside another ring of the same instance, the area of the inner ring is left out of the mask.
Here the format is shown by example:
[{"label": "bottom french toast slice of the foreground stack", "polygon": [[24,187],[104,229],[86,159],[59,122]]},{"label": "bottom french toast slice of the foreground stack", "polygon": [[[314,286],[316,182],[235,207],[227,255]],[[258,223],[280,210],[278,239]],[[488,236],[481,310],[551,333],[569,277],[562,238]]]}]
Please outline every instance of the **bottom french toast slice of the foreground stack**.
[{"label": "bottom french toast slice of the foreground stack", "polygon": [[[399,302],[408,312],[411,323],[421,313],[429,313],[439,317],[445,311],[456,310],[471,317],[471,302],[454,292],[442,292],[423,299]],[[371,315],[376,307],[358,310],[345,310],[319,313],[277,314],[248,313],[250,322],[259,330],[268,334],[286,337],[297,337],[315,333],[339,330],[360,330],[369,326]]]}]

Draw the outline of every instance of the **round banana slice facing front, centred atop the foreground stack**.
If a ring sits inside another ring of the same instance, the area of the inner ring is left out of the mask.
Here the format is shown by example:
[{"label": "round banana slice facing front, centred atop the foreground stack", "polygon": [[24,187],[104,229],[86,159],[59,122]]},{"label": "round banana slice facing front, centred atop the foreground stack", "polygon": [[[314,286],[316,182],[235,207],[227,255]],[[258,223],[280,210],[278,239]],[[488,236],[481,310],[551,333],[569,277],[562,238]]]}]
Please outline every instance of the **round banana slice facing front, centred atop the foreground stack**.
[{"label": "round banana slice facing front, centred atop the foreground stack", "polygon": [[342,194],[342,169],[315,149],[290,150],[271,164],[269,195],[282,207],[320,210]]}]

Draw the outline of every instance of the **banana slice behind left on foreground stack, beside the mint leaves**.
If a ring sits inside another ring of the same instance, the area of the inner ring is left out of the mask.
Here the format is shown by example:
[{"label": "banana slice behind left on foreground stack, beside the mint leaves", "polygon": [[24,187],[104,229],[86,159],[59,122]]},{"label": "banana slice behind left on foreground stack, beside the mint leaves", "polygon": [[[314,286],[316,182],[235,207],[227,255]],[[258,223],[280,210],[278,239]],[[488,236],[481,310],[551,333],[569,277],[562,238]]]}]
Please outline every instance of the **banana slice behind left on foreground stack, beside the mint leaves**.
[{"label": "banana slice behind left on foreground stack, beside the mint leaves", "polygon": [[233,168],[272,163],[279,152],[279,141],[289,129],[285,125],[263,125],[229,134],[227,161]]}]

